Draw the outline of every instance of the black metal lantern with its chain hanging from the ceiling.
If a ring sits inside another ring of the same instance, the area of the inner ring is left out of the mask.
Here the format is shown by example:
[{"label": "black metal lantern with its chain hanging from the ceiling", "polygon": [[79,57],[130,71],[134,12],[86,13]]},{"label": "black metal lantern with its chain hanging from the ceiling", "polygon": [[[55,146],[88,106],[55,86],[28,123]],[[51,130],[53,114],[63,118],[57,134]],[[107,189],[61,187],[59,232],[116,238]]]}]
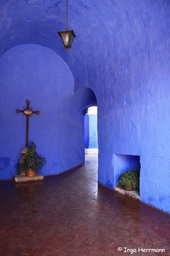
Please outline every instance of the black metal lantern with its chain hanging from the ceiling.
[{"label": "black metal lantern with its chain hanging from the ceiling", "polygon": [[76,35],[73,30],[68,30],[68,0],[66,0],[66,6],[66,31],[58,32],[58,34],[62,39],[65,50],[69,50]]}]

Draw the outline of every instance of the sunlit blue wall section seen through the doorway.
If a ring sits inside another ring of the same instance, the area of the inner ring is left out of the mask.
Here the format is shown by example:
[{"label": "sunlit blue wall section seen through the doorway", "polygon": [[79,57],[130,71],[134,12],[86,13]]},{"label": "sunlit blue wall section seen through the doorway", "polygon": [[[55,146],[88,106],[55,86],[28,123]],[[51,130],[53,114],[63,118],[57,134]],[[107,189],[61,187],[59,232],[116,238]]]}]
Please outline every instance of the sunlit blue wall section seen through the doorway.
[{"label": "sunlit blue wall section seen through the doorway", "polygon": [[98,148],[97,115],[85,115],[85,148]]}]

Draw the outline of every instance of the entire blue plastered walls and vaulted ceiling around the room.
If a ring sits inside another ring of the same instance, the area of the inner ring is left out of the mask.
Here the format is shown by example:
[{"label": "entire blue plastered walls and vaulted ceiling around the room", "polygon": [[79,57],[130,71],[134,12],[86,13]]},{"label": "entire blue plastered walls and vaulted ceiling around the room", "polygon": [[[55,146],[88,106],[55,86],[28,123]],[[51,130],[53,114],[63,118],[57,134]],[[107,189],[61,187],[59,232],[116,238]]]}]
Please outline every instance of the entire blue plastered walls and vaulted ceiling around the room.
[{"label": "entire blue plastered walls and vaulted ceiling around the room", "polygon": [[[12,177],[25,145],[24,117],[13,111],[27,98],[41,112],[31,119],[30,138],[47,157],[48,174],[83,162],[83,114],[96,96],[99,182],[114,188],[114,154],[140,156],[141,201],[170,212],[170,2],[76,0],[69,10],[77,37],[66,52],[57,35],[65,29],[65,0],[0,2],[1,177]],[[12,48],[21,44],[59,54],[71,82],[58,55],[32,49],[25,56],[22,46]]]}]

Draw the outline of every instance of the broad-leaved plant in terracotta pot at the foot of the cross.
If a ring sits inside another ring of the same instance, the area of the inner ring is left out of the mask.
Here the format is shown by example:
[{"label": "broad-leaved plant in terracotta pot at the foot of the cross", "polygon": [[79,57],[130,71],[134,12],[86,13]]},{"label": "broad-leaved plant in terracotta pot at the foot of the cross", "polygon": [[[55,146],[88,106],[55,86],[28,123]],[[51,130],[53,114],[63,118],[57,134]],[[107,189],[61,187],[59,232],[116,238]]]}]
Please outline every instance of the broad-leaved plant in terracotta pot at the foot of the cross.
[{"label": "broad-leaved plant in terracotta pot at the foot of the cross", "polygon": [[19,173],[25,170],[26,176],[34,177],[37,170],[42,170],[43,165],[46,164],[46,159],[40,157],[36,152],[36,144],[32,142],[28,147],[28,153],[24,156],[22,163],[19,164]]}]

